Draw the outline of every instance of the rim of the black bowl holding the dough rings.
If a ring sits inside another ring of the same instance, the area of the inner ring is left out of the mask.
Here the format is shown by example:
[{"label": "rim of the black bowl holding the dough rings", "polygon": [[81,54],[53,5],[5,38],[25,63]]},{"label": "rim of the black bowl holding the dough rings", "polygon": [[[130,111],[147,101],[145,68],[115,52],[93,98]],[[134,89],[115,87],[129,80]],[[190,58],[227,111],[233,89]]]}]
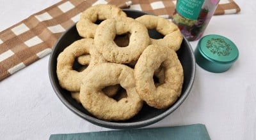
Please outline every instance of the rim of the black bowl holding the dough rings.
[{"label": "rim of the black bowl holding the dough rings", "polygon": [[[151,13],[147,13],[145,11],[138,11],[138,10],[124,9],[123,11],[130,11],[130,12],[152,15]],[[72,104],[70,104],[65,99],[65,97],[61,94],[61,92],[60,92],[60,90],[58,89],[58,86],[57,86],[58,83],[56,82],[56,80],[55,81],[53,80],[54,73],[56,73],[56,72],[51,71],[51,66],[53,66],[52,59],[54,57],[53,55],[57,51],[56,48],[58,46],[58,43],[60,43],[63,36],[65,36],[65,34],[67,34],[67,32],[70,31],[75,25],[76,25],[76,23],[71,25],[65,32],[63,32],[63,34],[61,34],[60,38],[58,38],[58,40],[56,41],[56,43],[52,47],[52,52],[51,52],[50,57],[49,57],[48,72],[49,72],[49,79],[51,81],[51,85],[54,89],[55,94],[58,96],[60,101],[63,102],[63,104],[68,109],[70,109],[70,111],[74,112],[76,115],[84,118],[88,122],[91,122],[95,125],[98,125],[98,126],[101,126],[101,127],[106,127],[106,128],[109,128],[109,129],[128,129],[128,128],[129,129],[136,129],[136,128],[145,127],[147,125],[151,125],[153,123],[159,122],[161,119],[163,119],[164,117],[170,115],[170,113],[175,111],[175,109],[177,109],[180,106],[180,104],[182,104],[182,102],[184,102],[186,97],[188,97],[189,92],[191,91],[191,88],[193,87],[193,83],[195,81],[195,73],[196,73],[195,55],[191,55],[192,69],[191,69],[191,80],[188,83],[188,88],[186,88],[186,90],[184,90],[183,94],[179,97],[179,99],[172,106],[170,106],[170,108],[166,109],[166,111],[164,111],[163,113],[161,113],[157,116],[154,116],[153,118],[148,118],[147,120],[141,120],[139,122],[109,122],[109,121],[106,121],[106,120],[100,120],[99,118],[94,118],[92,116],[86,115],[83,112],[79,111],[79,109],[72,106]],[[185,41],[185,43],[188,45],[189,53],[193,54],[193,48],[191,47],[191,44],[189,43],[189,41],[186,38],[183,38],[182,41]]]}]

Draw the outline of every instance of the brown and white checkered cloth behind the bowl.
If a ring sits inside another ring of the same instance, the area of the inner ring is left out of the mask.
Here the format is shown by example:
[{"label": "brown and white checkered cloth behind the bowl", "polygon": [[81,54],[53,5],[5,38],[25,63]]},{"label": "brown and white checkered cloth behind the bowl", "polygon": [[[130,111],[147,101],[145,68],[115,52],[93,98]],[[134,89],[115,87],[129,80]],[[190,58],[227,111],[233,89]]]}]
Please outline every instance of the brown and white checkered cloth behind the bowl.
[{"label": "brown and white checkered cloth behind the bowl", "polygon": [[[51,53],[52,46],[86,8],[115,4],[172,18],[175,0],[63,0],[0,32],[0,81]],[[232,0],[221,0],[216,15],[238,13]]]}]

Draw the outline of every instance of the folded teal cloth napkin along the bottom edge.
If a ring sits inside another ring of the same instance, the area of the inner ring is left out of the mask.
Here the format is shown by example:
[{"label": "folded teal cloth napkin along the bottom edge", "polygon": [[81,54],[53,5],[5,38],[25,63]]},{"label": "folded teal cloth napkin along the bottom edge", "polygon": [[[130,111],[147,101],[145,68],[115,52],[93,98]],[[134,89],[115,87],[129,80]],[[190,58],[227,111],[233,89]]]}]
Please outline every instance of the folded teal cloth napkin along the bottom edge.
[{"label": "folded teal cloth napkin along the bottom edge", "polygon": [[172,139],[172,140],[208,140],[210,139],[205,125],[184,125],[177,127],[160,127],[151,129],[110,130],[102,132],[86,132],[77,134],[52,134],[50,140],[78,139]]}]

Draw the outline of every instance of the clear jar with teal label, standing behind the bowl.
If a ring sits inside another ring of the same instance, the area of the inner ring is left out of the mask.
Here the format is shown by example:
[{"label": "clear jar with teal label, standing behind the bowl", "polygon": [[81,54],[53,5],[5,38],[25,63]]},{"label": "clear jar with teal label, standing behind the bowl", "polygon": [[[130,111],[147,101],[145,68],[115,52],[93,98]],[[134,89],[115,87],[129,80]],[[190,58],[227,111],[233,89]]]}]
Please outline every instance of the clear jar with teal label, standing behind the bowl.
[{"label": "clear jar with teal label, standing behind the bowl", "polygon": [[177,0],[173,22],[188,41],[202,37],[220,0]]}]

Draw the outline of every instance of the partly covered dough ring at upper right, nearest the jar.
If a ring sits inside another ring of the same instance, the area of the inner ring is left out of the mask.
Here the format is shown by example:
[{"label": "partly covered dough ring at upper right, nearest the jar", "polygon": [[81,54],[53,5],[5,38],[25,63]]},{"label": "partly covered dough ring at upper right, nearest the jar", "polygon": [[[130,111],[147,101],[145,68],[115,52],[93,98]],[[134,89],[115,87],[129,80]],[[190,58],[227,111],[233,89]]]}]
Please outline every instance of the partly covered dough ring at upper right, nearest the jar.
[{"label": "partly covered dough ring at upper right, nearest the jar", "polygon": [[173,22],[154,15],[143,15],[135,20],[145,25],[147,29],[156,29],[157,32],[163,34],[164,38],[162,39],[150,38],[151,45],[168,46],[175,51],[179,50],[183,37],[179,27]]}]

